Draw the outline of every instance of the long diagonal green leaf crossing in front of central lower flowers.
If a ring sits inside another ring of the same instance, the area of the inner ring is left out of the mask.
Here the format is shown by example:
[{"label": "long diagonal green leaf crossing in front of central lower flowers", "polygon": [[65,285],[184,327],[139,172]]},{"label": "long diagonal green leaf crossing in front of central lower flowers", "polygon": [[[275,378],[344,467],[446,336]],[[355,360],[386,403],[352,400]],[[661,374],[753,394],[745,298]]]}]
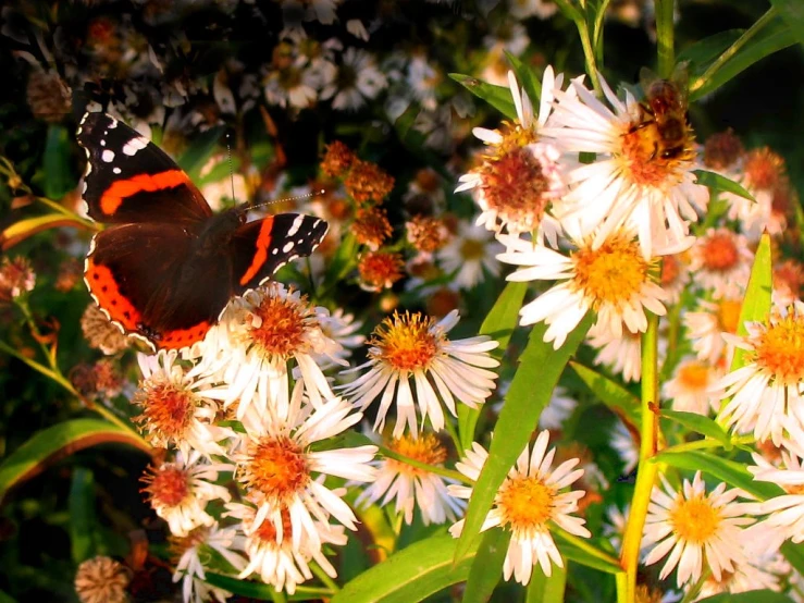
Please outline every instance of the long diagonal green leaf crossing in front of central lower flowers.
[{"label": "long diagonal green leaf crossing in front of central lower flowers", "polygon": [[533,430],[539,424],[539,416],[549,403],[558,378],[593,321],[593,313],[587,312],[564,345],[555,350],[552,343],[543,341],[547,331],[544,323],[536,324],[531,331],[494,429],[488,458],[469,500],[463,533],[455,554],[456,561],[460,561],[471,550],[472,542],[477,541],[480,527],[492,507],[497,489],[530,441]]}]

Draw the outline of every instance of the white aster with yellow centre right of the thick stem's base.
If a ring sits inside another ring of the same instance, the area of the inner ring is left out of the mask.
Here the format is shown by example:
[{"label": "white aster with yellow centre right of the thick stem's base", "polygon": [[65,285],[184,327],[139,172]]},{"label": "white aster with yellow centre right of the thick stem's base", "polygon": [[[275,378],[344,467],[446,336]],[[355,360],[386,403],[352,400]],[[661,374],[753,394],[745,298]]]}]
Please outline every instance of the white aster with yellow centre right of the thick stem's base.
[{"label": "white aster with yellow centre right of the thick stem's base", "polygon": [[683,490],[676,492],[661,476],[664,490],[654,487],[645,520],[643,542],[651,547],[645,558],[652,565],[668,553],[659,579],[664,580],[678,566],[676,583],[696,582],[704,568],[720,580],[725,571],[734,571],[734,563],[745,562],[742,528],[754,522],[745,517],[745,506],[735,503],[738,489],[726,490],[720,483],[706,493],[701,471]]}]

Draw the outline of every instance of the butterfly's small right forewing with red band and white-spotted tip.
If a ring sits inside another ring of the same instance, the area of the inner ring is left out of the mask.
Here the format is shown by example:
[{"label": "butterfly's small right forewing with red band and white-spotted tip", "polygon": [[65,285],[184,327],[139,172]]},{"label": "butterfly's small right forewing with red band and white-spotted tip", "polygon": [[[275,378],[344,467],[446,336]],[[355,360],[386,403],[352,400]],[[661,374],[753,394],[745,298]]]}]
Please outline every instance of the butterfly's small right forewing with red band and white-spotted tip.
[{"label": "butterfly's small right forewing with red band and white-spotted tip", "polygon": [[239,226],[232,243],[234,293],[256,287],[288,261],[312,254],[327,229],[324,220],[300,213],[279,213]]}]

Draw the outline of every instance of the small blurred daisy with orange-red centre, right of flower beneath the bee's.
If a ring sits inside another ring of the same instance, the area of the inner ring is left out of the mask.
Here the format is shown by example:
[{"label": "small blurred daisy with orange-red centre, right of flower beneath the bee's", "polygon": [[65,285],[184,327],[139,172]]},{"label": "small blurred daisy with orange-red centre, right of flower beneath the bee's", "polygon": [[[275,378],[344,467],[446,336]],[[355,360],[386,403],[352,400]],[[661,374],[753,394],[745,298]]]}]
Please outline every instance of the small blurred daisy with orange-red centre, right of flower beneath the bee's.
[{"label": "small blurred daisy with orange-red centre, right of flower beneath the bee's", "polygon": [[745,291],[754,254],[743,235],[729,229],[709,229],[690,249],[690,272],[695,284],[715,299],[734,298]]}]

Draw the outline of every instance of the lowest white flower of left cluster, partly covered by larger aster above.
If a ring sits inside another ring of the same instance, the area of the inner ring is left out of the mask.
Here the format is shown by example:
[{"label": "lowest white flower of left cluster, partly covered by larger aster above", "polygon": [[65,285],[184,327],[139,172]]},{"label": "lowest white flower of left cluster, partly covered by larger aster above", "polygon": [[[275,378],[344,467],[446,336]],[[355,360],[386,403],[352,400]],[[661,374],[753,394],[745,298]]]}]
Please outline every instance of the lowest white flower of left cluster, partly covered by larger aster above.
[{"label": "lowest white flower of left cluster, partly covered by larger aster above", "polygon": [[242,567],[238,579],[243,580],[257,574],[267,584],[271,584],[276,592],[296,592],[296,587],[313,577],[310,562],[318,566],[331,578],[337,577],[322,551],[322,545],[334,544],[343,546],[348,540],[343,526],[330,526],[319,520],[312,521],[316,539],[302,539],[294,544],[293,526],[288,509],[281,513],[282,529],[277,530],[273,522],[262,521],[256,525],[258,508],[242,503],[226,505],[225,517],[235,517],[240,520],[238,528],[245,534],[243,551],[248,556],[248,564]]}]

